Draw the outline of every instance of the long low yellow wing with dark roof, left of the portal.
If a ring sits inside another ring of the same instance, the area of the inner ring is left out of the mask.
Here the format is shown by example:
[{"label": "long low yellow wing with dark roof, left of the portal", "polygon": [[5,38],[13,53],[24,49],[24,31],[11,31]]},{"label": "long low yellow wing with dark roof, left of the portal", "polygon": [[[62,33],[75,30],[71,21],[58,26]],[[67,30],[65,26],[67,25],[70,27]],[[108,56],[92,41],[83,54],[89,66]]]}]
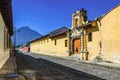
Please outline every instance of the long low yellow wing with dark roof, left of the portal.
[{"label": "long low yellow wing with dark roof, left of the portal", "polygon": [[67,30],[66,27],[62,27],[31,41],[30,51],[44,55],[68,56]]}]

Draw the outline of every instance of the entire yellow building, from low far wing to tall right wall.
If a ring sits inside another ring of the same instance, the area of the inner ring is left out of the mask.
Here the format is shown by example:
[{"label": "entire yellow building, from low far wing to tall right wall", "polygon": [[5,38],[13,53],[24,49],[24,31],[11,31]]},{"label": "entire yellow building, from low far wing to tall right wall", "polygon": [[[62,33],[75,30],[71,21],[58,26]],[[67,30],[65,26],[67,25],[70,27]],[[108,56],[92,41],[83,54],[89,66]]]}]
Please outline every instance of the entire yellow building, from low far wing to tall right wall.
[{"label": "entire yellow building, from low far wing to tall right wall", "polygon": [[63,30],[64,34],[58,29],[32,41],[31,51],[59,56],[77,54],[80,60],[120,63],[119,13],[120,5],[89,21],[86,10],[76,10],[72,14],[70,29]]}]

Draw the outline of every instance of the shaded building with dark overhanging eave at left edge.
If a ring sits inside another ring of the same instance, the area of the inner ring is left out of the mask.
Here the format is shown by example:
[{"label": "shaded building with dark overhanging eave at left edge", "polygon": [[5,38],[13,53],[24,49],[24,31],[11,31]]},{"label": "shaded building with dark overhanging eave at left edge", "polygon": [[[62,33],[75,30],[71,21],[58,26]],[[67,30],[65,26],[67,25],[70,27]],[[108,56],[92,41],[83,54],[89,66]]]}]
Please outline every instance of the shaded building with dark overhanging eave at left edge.
[{"label": "shaded building with dark overhanging eave at left edge", "polygon": [[10,56],[13,34],[11,0],[0,0],[0,68]]}]

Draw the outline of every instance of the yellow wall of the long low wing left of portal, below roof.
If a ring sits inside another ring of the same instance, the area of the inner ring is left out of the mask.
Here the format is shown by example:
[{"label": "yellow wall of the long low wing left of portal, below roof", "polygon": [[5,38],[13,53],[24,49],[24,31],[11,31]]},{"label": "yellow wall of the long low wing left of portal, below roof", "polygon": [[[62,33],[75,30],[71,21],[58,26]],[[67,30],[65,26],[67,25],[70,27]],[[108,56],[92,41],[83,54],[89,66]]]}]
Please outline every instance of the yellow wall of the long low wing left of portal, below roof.
[{"label": "yellow wall of the long low wing left of portal, below roof", "polygon": [[[56,45],[54,41],[56,40]],[[65,47],[65,40],[67,40],[66,35],[58,35],[53,38],[44,37],[37,41],[30,43],[31,52],[40,53],[45,55],[53,55],[59,57],[66,57],[68,53],[68,47]]]}]

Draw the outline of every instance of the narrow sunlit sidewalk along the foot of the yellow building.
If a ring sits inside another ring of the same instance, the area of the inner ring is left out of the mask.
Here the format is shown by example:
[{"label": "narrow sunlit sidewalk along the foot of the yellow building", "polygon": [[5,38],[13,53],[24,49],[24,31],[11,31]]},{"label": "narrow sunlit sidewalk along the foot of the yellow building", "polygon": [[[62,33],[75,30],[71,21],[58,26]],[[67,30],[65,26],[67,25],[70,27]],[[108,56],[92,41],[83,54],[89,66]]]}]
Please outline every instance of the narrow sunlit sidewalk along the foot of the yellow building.
[{"label": "narrow sunlit sidewalk along the foot of the yellow building", "polygon": [[[24,53],[24,52],[23,52]],[[30,52],[25,52],[25,54],[35,54],[35,55],[38,55],[36,56],[36,58],[39,57],[39,54],[37,53],[30,53]],[[71,58],[70,56],[69,57],[58,57],[58,56],[52,56],[52,55],[43,55],[43,54],[40,54],[42,56],[45,56],[46,58],[47,57],[52,57],[52,58],[59,58],[59,59],[65,59],[65,60],[70,60],[70,61],[74,61],[74,62],[80,62],[80,63],[83,63],[83,64],[90,64],[90,65],[96,65],[96,66],[101,66],[101,67],[107,67],[107,68],[112,68],[112,69],[119,69],[120,70],[120,64],[119,63],[108,63],[108,62],[95,62],[95,61],[88,61],[88,60],[78,60],[78,59],[75,59],[75,58]]]}]

